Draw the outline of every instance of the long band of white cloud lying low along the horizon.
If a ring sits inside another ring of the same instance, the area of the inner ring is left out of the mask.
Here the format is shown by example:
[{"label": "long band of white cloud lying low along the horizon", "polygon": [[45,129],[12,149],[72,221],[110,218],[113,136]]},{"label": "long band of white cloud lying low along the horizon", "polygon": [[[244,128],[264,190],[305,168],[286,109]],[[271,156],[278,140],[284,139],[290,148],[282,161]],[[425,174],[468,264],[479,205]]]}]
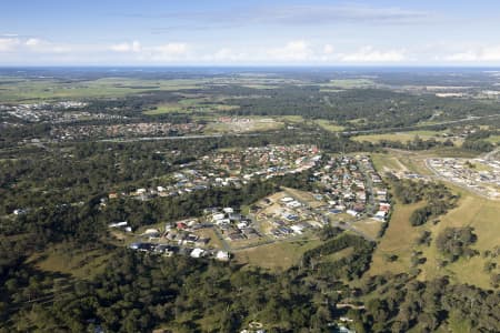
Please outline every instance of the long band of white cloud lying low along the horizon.
[{"label": "long band of white cloud lying low along the horizon", "polygon": [[130,40],[117,43],[61,43],[39,37],[0,34],[2,63],[123,63],[123,64],[384,64],[384,63],[500,63],[500,44],[442,43],[410,49],[352,46],[307,39],[289,42],[249,41],[200,43],[182,41],[143,46]]}]

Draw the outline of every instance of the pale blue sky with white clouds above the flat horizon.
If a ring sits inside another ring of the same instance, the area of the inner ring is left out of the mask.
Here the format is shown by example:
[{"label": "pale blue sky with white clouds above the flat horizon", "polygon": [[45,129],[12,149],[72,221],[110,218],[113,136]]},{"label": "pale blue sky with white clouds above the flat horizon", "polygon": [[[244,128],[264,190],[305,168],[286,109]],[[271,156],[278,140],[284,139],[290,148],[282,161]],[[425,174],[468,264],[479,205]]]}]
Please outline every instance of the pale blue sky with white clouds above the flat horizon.
[{"label": "pale blue sky with white clouds above the flat horizon", "polygon": [[498,0],[1,0],[0,65],[500,65]]}]

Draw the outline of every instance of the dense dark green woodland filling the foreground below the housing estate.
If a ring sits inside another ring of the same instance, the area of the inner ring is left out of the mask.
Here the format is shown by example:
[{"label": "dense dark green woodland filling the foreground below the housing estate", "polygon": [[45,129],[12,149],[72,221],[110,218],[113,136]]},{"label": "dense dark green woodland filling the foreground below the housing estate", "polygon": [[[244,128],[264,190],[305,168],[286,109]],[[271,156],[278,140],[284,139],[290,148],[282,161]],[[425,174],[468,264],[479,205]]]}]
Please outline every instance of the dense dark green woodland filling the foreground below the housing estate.
[{"label": "dense dark green woodland filling the foreground below the housing estate", "polygon": [[[433,332],[450,323],[470,332],[498,329],[498,293],[453,285],[446,278],[420,282],[407,274],[363,280],[359,289],[349,291],[331,274],[346,274],[358,260],[311,265],[321,252],[346,245],[360,249],[357,252],[366,246],[361,240],[340,235],[307,253],[303,262],[308,265],[280,274],[127,250],[116,250],[104,273],[69,285],[58,283],[61,276],[11,265],[2,274],[4,322],[0,330],[84,332],[100,326],[110,332],[154,327],[234,332],[259,320],[269,332],[330,332],[327,324],[341,315],[356,320],[357,332],[412,327]],[[356,274],[362,271],[360,266]],[[371,299],[363,310],[337,309],[336,304],[363,295]]]}]

